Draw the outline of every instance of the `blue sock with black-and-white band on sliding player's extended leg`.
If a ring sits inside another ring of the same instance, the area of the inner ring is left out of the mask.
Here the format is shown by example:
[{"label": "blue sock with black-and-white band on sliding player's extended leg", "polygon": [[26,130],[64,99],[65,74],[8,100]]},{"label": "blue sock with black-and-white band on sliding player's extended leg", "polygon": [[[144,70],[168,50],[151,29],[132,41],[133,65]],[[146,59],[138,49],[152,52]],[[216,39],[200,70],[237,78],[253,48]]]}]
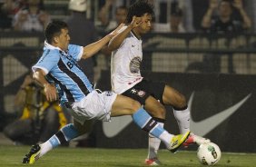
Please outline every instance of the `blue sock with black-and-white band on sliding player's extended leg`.
[{"label": "blue sock with black-and-white band on sliding player's extended leg", "polygon": [[141,129],[153,136],[159,138],[165,132],[162,126],[153,120],[153,117],[143,108],[140,108],[136,113],[133,113],[133,122],[140,126]]}]

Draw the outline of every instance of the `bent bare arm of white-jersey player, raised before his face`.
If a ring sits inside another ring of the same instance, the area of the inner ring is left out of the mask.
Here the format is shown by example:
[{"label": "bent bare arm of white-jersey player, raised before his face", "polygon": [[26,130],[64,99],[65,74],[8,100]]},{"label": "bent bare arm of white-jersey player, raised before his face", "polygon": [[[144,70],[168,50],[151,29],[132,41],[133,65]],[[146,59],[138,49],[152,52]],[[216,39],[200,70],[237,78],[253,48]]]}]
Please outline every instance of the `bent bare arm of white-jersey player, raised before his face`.
[{"label": "bent bare arm of white-jersey player, raised before his face", "polygon": [[142,24],[142,18],[133,16],[133,21],[130,25],[128,25],[122,32],[116,34],[113,39],[109,42],[108,48],[111,51],[116,50],[123,43],[123,40],[126,36],[133,30],[133,28]]}]

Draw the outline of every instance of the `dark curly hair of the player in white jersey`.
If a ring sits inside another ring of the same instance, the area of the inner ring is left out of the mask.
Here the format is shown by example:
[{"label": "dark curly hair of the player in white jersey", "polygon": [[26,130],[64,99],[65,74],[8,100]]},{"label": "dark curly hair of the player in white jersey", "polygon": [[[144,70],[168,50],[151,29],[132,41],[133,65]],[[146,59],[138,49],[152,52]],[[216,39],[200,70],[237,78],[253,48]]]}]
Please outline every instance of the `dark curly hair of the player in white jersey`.
[{"label": "dark curly hair of the player in white jersey", "polygon": [[128,9],[125,24],[130,24],[133,21],[133,16],[143,16],[144,14],[154,15],[153,5],[147,0],[138,0]]}]

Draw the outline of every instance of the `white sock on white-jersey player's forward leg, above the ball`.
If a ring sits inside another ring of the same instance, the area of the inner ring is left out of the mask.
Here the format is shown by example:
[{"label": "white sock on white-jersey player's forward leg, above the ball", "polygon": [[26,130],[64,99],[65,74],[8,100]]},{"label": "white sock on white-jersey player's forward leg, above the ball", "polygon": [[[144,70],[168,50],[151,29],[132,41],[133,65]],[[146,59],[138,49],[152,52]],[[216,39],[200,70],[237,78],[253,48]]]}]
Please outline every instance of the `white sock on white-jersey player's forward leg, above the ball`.
[{"label": "white sock on white-jersey player's forward leg, above the ball", "polygon": [[177,111],[173,109],[173,113],[179,125],[180,132],[183,134],[190,131],[190,119],[191,119],[190,110],[188,108],[181,111]]}]

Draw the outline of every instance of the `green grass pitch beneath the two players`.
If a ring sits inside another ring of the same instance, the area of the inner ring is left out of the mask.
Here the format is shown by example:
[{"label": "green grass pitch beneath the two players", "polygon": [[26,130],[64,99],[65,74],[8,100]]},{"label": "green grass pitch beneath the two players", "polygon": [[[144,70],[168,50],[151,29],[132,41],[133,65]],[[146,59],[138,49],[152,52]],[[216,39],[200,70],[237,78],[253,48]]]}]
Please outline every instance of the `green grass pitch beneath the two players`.
[{"label": "green grass pitch beneath the two players", "polygon": [[[146,149],[89,149],[59,147],[48,152],[33,165],[22,164],[21,161],[30,147],[0,145],[0,166],[18,167],[139,167],[145,166],[143,161],[147,154]],[[196,152],[177,152],[175,154],[161,150],[159,158],[162,166],[195,167],[201,165]],[[222,152],[219,167],[255,167],[256,153],[228,153]]]}]

